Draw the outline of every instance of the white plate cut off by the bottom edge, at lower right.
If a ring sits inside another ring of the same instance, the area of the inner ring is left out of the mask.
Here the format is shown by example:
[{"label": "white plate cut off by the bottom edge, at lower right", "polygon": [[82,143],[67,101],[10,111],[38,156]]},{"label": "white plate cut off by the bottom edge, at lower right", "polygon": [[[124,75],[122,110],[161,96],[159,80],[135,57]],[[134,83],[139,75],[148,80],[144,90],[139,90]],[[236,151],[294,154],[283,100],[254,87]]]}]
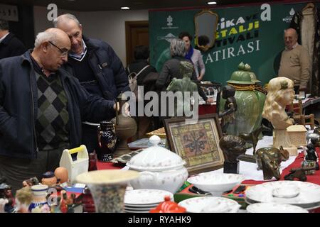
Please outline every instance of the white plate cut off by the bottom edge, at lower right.
[{"label": "white plate cut off by the bottom edge, at lower right", "polygon": [[290,204],[257,203],[247,206],[248,213],[309,213],[300,206]]}]

